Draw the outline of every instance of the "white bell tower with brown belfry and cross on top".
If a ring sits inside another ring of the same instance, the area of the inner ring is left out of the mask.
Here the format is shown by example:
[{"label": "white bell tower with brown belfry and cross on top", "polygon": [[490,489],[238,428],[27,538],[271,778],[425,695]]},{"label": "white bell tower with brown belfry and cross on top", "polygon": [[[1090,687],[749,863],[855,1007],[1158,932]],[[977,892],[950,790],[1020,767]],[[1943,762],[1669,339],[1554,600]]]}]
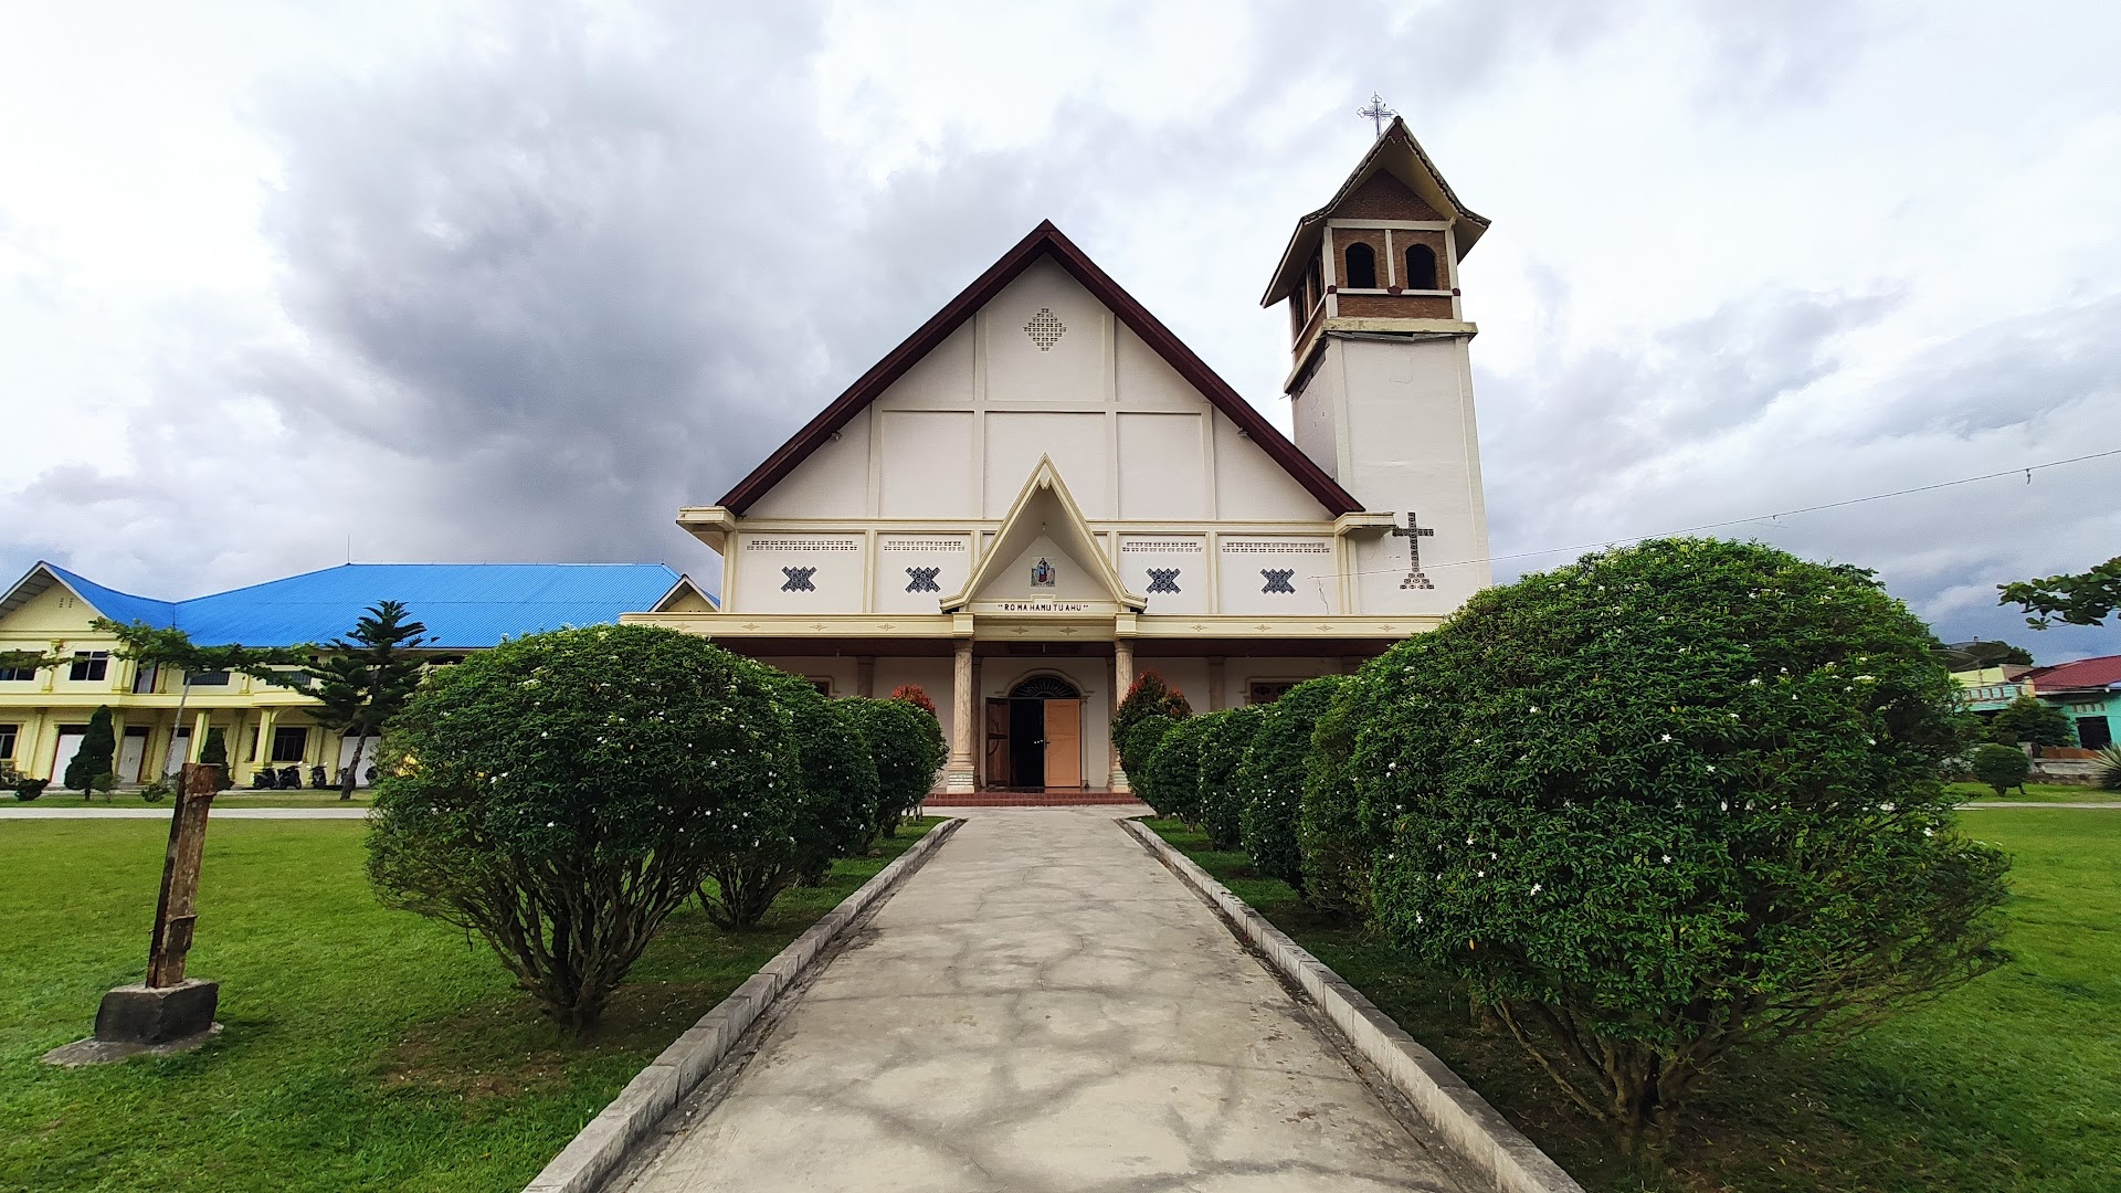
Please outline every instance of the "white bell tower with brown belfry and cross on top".
[{"label": "white bell tower with brown belfry and cross on top", "polygon": [[[1398,117],[1296,223],[1262,306],[1290,306],[1296,446],[1355,495],[1347,609],[1449,613],[1489,584],[1459,261],[1489,221]],[[1391,516],[1391,531],[1383,518]]]}]

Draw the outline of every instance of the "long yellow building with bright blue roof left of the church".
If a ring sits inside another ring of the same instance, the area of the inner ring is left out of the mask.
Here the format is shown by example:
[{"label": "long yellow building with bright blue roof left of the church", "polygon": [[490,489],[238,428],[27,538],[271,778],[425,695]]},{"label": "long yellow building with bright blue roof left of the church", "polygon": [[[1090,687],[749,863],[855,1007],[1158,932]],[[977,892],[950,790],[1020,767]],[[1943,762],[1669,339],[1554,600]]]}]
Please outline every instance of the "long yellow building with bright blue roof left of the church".
[{"label": "long yellow building with bright blue roof left of the church", "polygon": [[322,766],[335,783],[354,743],[318,726],[308,715],[312,701],[229,673],[193,675],[187,694],[182,675],[119,658],[117,641],[91,622],[174,626],[199,645],[276,647],[344,637],[378,601],[403,601],[428,626],[422,654],[435,662],[505,637],[615,622],[647,607],[670,613],[715,607],[713,594],[655,563],[352,563],[191,601],[134,596],[38,563],[0,599],[0,652],[68,662],[0,669],[0,762],[57,781],[89,715],[108,705],[121,785],[153,779],[165,760],[197,760],[210,730],[223,732],[238,785],[248,785],[263,766],[295,766],[303,781]]}]

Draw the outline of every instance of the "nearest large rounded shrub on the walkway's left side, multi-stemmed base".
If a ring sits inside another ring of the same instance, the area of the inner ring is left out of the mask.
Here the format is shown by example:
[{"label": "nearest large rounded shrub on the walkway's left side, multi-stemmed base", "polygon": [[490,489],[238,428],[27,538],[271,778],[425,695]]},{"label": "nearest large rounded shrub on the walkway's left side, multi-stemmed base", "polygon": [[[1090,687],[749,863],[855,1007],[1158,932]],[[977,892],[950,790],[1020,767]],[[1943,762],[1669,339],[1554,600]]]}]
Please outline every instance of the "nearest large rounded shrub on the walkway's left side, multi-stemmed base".
[{"label": "nearest large rounded shrub on the walkway's left side, multi-stemmed base", "polygon": [[588,1027],[717,860],[789,836],[802,771],[772,677],[651,626],[437,671],[386,737],[378,896],[479,934],[545,1015]]}]

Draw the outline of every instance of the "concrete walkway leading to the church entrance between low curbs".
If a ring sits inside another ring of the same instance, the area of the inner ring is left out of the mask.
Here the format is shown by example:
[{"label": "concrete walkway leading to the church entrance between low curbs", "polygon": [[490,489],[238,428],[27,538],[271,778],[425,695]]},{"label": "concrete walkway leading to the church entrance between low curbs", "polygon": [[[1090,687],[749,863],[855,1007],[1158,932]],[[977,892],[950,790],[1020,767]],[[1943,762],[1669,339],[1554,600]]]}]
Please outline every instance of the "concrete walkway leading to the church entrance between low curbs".
[{"label": "concrete walkway leading to the church entrance between low curbs", "polygon": [[969,815],[624,1187],[1474,1189],[1114,811]]}]

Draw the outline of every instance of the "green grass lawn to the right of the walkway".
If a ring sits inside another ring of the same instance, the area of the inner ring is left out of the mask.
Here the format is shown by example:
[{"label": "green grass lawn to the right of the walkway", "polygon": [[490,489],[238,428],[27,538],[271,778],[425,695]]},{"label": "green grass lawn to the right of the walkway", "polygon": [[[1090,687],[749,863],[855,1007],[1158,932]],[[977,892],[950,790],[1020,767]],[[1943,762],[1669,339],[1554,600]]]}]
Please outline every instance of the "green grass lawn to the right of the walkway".
[{"label": "green grass lawn to the right of the walkway", "polygon": [[1661,1170],[1623,1161],[1463,989],[1374,936],[1317,921],[1243,853],[1150,822],[1434,1049],[1593,1191],[2121,1189],[2121,811],[1996,809],[2013,853],[2013,964],[1837,1049],[1741,1057]]}]

